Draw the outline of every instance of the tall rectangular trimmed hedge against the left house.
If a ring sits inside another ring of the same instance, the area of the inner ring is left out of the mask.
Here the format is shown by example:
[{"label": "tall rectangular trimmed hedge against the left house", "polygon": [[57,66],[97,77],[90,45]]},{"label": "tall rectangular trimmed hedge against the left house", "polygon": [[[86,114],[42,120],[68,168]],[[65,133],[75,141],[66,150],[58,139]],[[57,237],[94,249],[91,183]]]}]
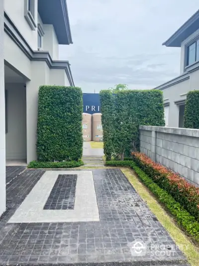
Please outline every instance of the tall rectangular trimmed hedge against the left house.
[{"label": "tall rectangular trimmed hedge against the left house", "polygon": [[39,88],[38,161],[79,160],[83,152],[81,88]]}]

